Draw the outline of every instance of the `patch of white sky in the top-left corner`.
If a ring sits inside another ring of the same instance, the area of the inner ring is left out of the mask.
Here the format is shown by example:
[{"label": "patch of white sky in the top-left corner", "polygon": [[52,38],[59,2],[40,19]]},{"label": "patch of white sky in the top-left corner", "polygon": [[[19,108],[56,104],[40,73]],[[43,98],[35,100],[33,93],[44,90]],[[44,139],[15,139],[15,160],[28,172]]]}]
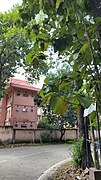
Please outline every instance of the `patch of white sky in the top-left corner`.
[{"label": "patch of white sky in the top-left corner", "polygon": [[5,12],[10,10],[13,5],[21,5],[22,0],[0,0],[0,12]]}]

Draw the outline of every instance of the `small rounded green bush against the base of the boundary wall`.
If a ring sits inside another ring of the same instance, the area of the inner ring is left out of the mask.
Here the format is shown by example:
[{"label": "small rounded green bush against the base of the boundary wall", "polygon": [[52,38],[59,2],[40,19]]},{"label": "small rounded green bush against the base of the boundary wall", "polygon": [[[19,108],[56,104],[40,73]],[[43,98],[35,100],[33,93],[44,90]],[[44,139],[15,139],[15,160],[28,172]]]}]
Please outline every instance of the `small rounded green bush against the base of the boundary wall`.
[{"label": "small rounded green bush against the base of the boundary wall", "polygon": [[50,131],[45,131],[40,134],[41,143],[51,143],[52,135]]}]

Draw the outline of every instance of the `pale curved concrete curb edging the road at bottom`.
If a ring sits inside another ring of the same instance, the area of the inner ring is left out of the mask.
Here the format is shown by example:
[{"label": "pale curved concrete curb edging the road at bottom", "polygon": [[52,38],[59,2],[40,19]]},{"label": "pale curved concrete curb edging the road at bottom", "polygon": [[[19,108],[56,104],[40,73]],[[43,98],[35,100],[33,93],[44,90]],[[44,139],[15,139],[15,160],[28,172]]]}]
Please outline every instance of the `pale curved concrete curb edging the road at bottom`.
[{"label": "pale curved concrete curb edging the road at bottom", "polygon": [[55,165],[53,165],[52,167],[50,167],[49,169],[47,169],[37,180],[49,180],[49,178],[52,176],[52,174],[63,164],[65,164],[66,162],[70,161],[72,158],[68,158],[66,160],[63,160]]}]

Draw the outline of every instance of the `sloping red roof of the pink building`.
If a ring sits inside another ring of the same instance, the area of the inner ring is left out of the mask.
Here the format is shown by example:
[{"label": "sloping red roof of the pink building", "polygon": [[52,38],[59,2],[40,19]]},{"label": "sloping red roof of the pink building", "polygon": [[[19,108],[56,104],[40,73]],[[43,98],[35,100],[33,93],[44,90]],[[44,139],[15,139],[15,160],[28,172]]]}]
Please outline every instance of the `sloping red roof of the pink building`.
[{"label": "sloping red roof of the pink building", "polygon": [[15,79],[15,78],[10,78],[9,84],[12,87],[28,89],[28,90],[32,90],[32,91],[36,91],[36,92],[38,92],[40,90],[39,88],[35,88],[32,85],[30,85],[27,81]]}]

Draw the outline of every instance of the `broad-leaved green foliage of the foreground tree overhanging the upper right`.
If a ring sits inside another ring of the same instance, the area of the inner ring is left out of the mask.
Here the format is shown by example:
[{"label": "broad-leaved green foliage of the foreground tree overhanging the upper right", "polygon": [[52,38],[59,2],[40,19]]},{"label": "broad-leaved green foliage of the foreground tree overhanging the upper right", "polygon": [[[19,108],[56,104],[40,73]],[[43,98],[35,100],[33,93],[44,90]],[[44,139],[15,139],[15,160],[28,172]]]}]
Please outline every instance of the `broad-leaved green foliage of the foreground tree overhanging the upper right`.
[{"label": "broad-leaved green foliage of the foreground tree overhanging the upper right", "polygon": [[[50,91],[47,88],[44,89],[45,99],[51,100],[54,111],[57,110],[58,113],[66,110],[70,101],[78,103],[79,119],[81,119],[79,121],[81,122],[80,133],[84,136],[84,108],[96,100],[99,111],[101,110],[100,1],[40,0],[32,2],[24,0],[23,2],[20,15],[23,22],[28,22],[24,28],[34,42],[33,56],[29,62],[37,53],[44,54],[52,46],[58,55],[66,57],[66,61],[73,70],[68,76],[70,77],[69,82],[72,80],[75,83],[72,98],[63,94],[56,97],[56,93],[59,93],[61,89],[60,86],[57,88],[56,81]],[[26,16],[22,17],[22,14]],[[28,26],[29,19],[26,18],[27,14],[30,19],[30,27]],[[48,83],[50,87],[50,82]],[[65,87],[68,87],[68,83]],[[51,91],[54,91],[54,96]],[[61,104],[61,106],[57,104]]]}]

